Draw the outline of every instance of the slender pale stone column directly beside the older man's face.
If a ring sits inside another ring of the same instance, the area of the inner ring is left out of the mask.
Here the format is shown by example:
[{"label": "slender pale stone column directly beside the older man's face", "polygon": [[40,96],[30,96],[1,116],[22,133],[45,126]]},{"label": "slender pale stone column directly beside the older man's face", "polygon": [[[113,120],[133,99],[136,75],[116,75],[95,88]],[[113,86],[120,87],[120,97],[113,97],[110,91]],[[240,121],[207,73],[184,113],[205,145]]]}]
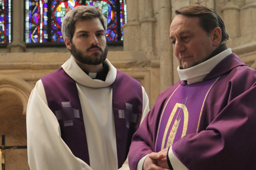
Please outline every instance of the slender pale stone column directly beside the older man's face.
[{"label": "slender pale stone column directly beside the older man's face", "polygon": [[158,1],[158,56],[160,58],[161,92],[173,85],[173,46],[169,40],[171,1]]}]

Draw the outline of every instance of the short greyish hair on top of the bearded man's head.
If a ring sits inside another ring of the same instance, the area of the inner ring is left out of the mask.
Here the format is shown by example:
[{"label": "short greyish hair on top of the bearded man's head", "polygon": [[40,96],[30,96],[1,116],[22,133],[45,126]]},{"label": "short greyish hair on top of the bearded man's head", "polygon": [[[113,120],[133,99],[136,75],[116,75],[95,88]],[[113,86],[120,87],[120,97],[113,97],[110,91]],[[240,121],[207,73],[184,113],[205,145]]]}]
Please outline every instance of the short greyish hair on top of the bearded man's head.
[{"label": "short greyish hair on top of the bearded man's head", "polygon": [[64,20],[62,22],[62,37],[63,39],[67,37],[71,42],[74,36],[75,31],[75,22],[80,20],[90,20],[99,18],[100,22],[106,31],[107,29],[107,20],[104,15],[100,12],[100,10],[92,7],[90,5],[87,6],[79,6],[74,9],[68,11]]}]

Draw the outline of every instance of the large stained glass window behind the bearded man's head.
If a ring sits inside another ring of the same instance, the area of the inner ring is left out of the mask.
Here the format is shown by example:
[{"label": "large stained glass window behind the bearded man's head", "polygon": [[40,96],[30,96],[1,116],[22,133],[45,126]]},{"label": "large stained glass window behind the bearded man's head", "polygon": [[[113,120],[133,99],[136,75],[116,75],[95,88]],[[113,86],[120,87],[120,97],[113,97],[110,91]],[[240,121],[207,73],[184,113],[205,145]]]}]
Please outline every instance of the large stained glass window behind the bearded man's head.
[{"label": "large stained glass window behind the bearded man's head", "polygon": [[61,24],[68,6],[91,5],[108,19],[107,41],[123,41],[125,0],[26,0],[26,43],[64,42]]}]

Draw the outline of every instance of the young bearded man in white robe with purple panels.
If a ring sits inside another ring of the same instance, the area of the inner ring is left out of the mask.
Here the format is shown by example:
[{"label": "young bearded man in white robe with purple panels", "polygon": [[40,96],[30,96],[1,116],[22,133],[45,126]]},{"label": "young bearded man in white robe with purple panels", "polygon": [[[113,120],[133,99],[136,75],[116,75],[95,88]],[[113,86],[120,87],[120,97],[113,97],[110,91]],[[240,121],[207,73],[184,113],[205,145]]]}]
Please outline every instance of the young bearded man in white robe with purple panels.
[{"label": "young bearded man in white robe with purple panels", "polygon": [[129,169],[131,137],[149,110],[148,96],[106,59],[106,25],[91,6],[64,17],[72,56],[37,82],[28,102],[30,169]]}]

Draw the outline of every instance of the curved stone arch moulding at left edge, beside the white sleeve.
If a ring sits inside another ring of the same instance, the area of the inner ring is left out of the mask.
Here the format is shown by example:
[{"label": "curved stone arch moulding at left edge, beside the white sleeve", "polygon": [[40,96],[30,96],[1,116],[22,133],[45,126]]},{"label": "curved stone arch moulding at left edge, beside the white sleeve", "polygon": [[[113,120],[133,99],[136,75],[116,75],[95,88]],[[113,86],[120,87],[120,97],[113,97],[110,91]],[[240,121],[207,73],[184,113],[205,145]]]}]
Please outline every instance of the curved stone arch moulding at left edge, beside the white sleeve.
[{"label": "curved stone arch moulding at left edge, beside the white sleeve", "polygon": [[11,93],[16,95],[22,103],[22,114],[26,114],[28,98],[33,86],[21,78],[14,76],[0,75],[0,94]]}]

